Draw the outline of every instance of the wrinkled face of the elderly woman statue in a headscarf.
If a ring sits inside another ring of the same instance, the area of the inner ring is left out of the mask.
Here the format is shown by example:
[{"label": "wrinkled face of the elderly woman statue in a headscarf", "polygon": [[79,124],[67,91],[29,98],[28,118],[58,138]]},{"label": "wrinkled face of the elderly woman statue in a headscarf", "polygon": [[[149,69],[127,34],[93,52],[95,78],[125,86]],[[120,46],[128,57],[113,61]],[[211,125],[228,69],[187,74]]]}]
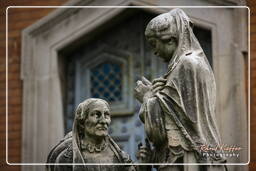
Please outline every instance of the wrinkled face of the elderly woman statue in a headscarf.
[{"label": "wrinkled face of the elderly woman statue in a headscarf", "polygon": [[110,122],[109,107],[103,101],[96,101],[90,104],[89,113],[84,125],[85,133],[96,137],[107,136]]}]

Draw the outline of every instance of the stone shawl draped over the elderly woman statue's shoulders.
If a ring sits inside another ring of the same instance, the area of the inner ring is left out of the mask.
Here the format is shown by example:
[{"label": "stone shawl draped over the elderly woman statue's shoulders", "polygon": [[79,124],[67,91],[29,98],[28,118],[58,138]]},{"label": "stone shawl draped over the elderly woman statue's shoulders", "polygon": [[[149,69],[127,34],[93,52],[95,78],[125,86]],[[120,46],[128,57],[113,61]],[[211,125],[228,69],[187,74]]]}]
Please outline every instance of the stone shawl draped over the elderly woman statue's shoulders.
[{"label": "stone shawl draped over the elderly woman statue's shoulders", "polygon": [[[132,163],[128,154],[122,151],[118,145],[112,140],[111,137],[107,137],[108,147],[112,151],[114,158],[113,163]],[[73,143],[72,143],[73,142]],[[108,148],[107,147],[107,148]],[[95,160],[94,162],[92,160]],[[90,158],[89,163],[97,163],[100,161],[97,157]],[[70,165],[49,165],[48,171],[135,171],[133,165],[83,165],[88,163],[86,156],[82,156],[81,149],[74,148],[74,139],[72,139],[72,133],[70,132],[60,141],[49,153],[47,163],[65,164]],[[79,164],[79,165],[72,165]],[[104,164],[104,163],[102,163]]]}]

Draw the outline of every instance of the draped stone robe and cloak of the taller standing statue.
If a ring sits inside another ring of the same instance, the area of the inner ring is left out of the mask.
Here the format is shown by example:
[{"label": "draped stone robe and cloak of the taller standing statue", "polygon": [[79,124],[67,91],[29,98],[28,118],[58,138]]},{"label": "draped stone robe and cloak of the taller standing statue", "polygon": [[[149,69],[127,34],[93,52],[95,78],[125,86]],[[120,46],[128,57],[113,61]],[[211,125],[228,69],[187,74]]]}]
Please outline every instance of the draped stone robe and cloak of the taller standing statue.
[{"label": "draped stone robe and cloak of the taller standing statue", "polygon": [[[215,123],[215,80],[203,52],[191,51],[180,56],[163,78],[167,80],[164,88],[144,101],[140,109],[147,136],[156,148],[153,162],[225,162],[221,151],[210,151],[208,154],[213,155],[208,156],[200,150],[203,145],[220,144]],[[202,167],[205,171],[224,168]]]}]

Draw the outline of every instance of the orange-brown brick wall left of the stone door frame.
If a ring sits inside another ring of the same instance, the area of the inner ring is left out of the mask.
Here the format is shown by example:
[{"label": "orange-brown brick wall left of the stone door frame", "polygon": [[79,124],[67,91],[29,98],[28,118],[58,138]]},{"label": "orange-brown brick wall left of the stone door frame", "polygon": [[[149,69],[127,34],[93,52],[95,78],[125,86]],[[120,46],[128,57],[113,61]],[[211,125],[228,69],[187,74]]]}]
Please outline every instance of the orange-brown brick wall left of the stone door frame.
[{"label": "orange-brown brick wall left of the stone door frame", "polygon": [[[0,0],[0,170],[19,171],[20,166],[5,164],[5,9],[7,6],[58,6],[66,0]],[[53,9],[10,9],[8,34],[8,124],[9,124],[9,162],[21,161],[21,123],[22,123],[22,81],[20,79],[21,31]]]}]

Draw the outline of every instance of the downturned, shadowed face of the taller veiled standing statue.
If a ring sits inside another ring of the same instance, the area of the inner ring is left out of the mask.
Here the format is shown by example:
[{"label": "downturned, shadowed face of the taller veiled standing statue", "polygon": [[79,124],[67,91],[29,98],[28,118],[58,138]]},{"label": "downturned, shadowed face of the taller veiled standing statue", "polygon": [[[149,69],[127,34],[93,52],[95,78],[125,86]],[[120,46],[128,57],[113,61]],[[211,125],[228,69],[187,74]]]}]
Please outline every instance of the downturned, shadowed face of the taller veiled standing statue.
[{"label": "downturned, shadowed face of the taller veiled standing statue", "polygon": [[148,39],[149,44],[153,48],[154,54],[162,58],[165,62],[169,62],[177,49],[177,41],[174,37],[161,40],[156,37]]}]

